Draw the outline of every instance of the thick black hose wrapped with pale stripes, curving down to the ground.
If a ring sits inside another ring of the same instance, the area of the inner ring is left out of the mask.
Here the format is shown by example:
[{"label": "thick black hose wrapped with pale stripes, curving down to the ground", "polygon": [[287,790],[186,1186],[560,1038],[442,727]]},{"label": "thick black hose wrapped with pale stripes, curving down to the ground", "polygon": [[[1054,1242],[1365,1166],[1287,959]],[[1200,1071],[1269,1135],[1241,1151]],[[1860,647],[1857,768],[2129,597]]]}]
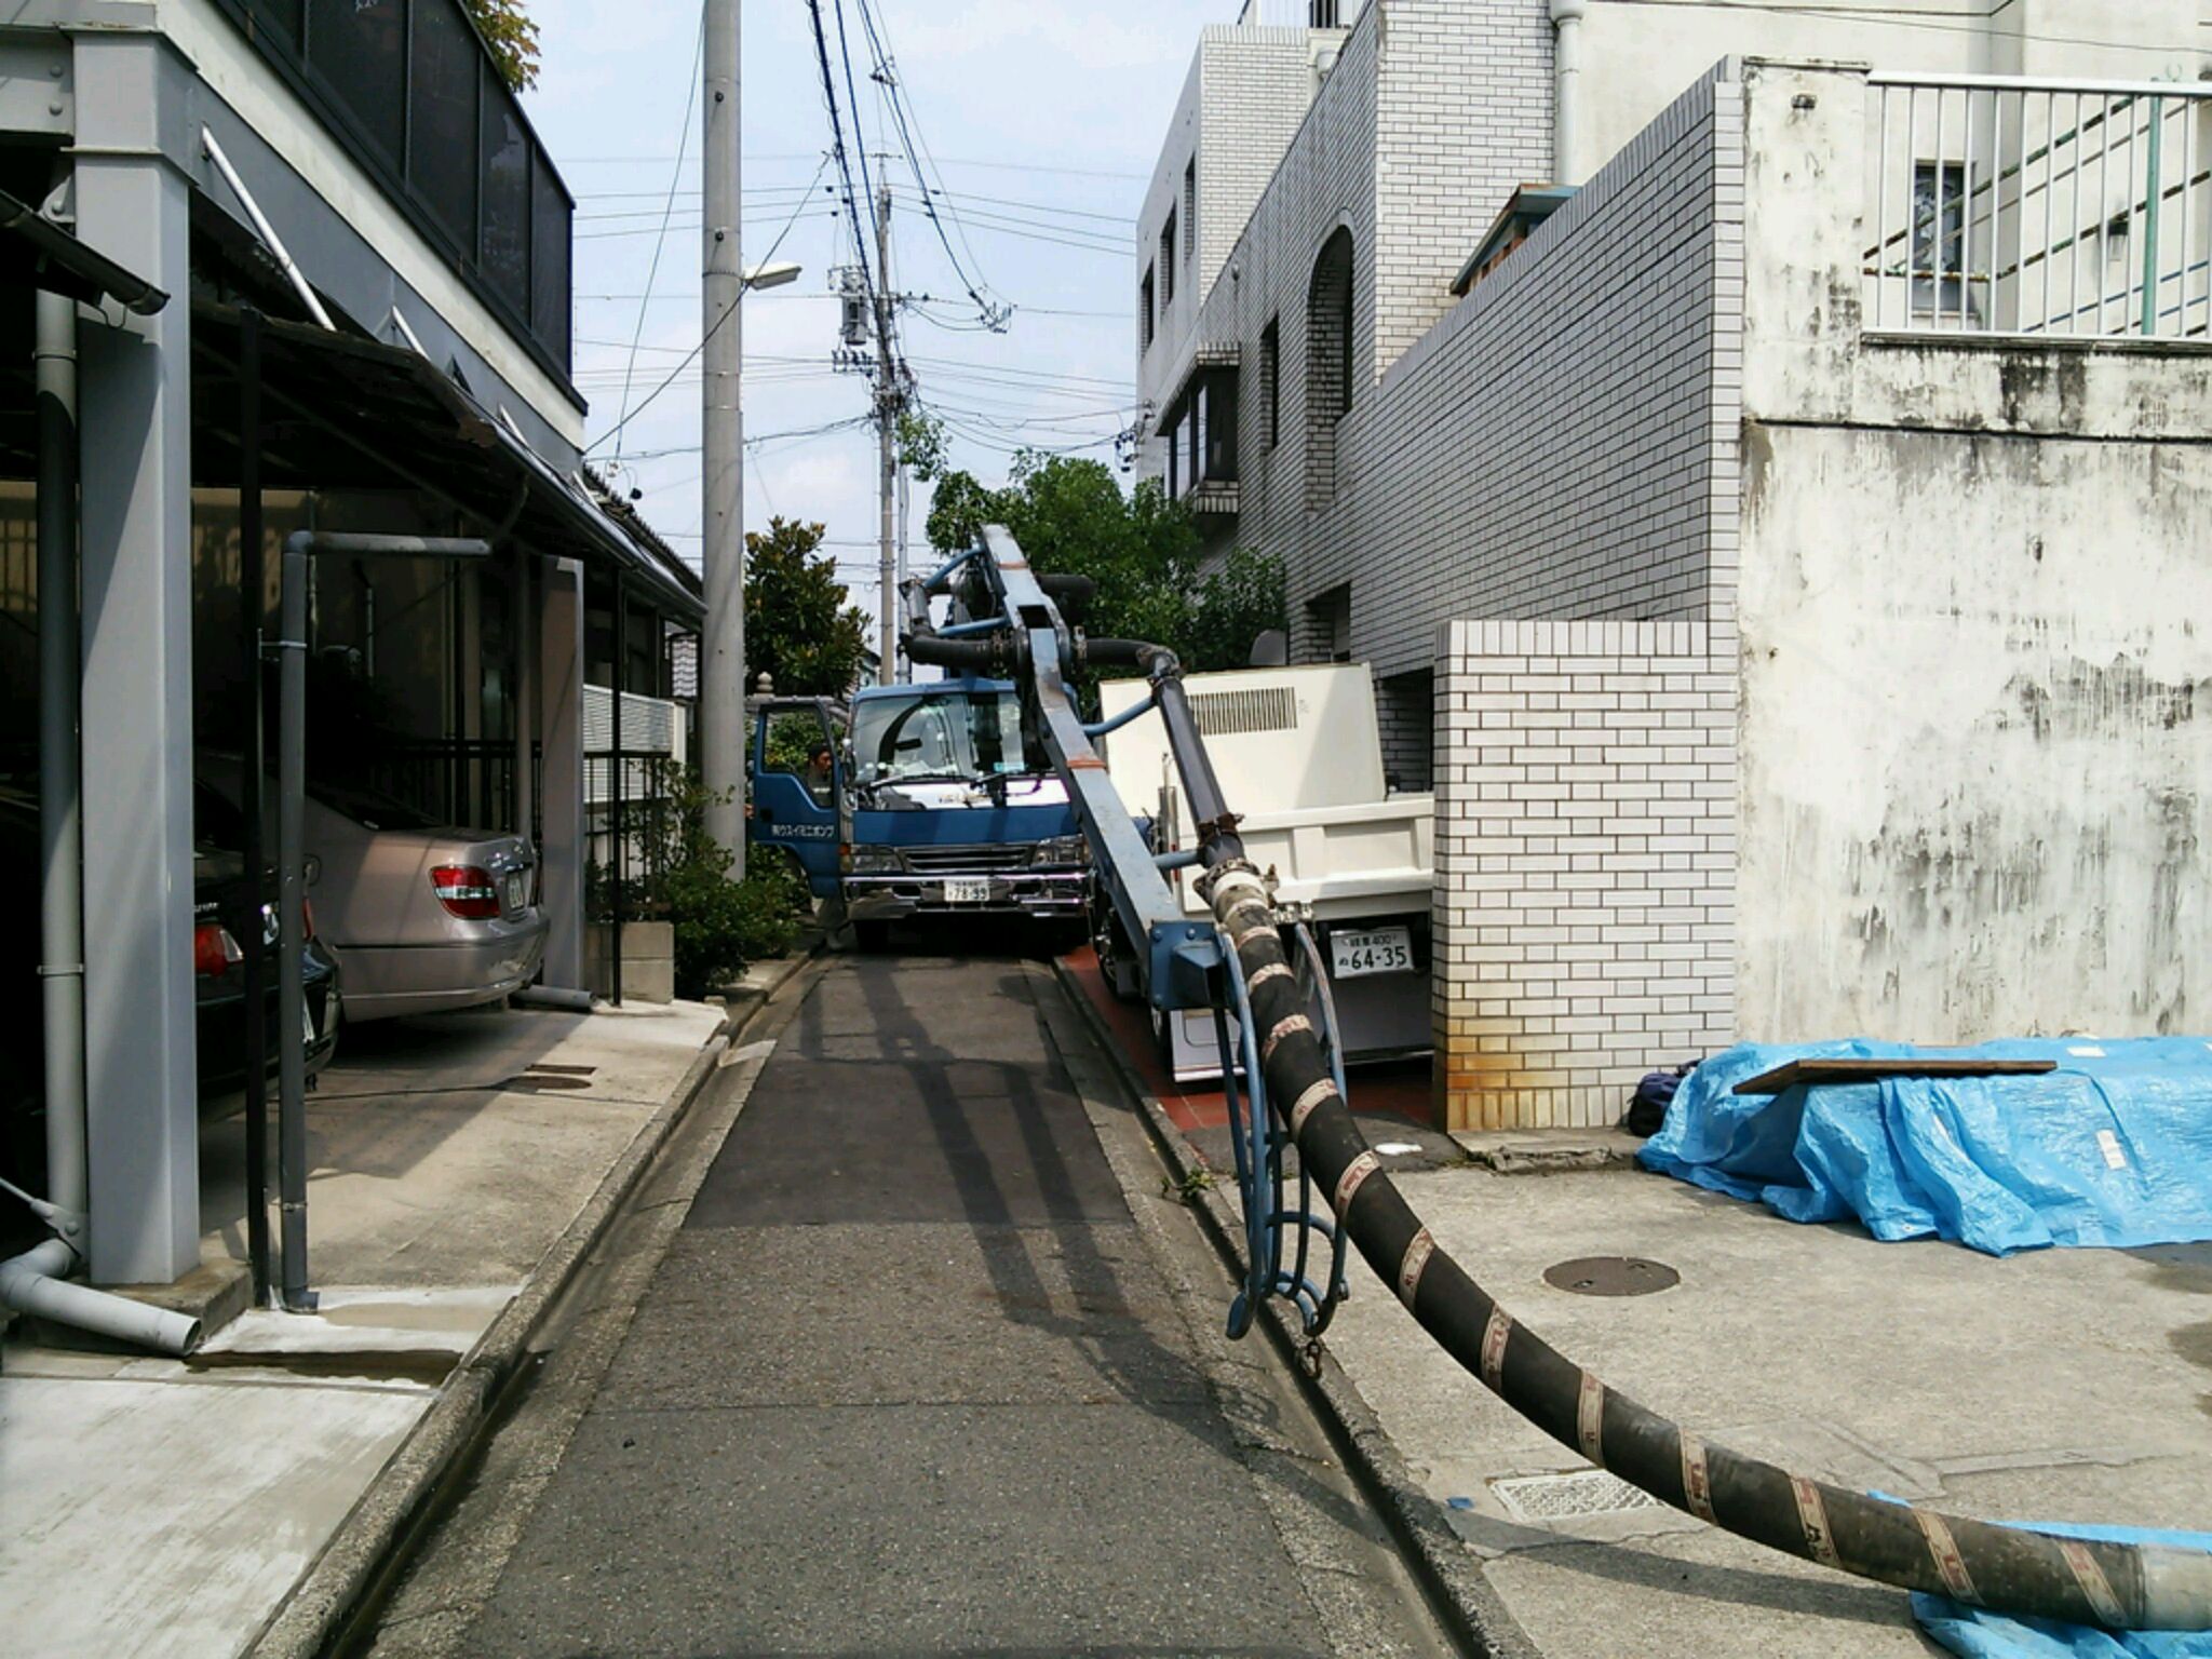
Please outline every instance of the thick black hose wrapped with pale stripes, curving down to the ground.
[{"label": "thick black hose wrapped with pale stripes, curving down to the ground", "polygon": [[1705,1444],[1520,1325],[1447,1256],[1329,1079],[1265,883],[1210,858],[1208,900],[1250,987],[1261,1073],[1360,1256],[1460,1365],[1553,1440],[1652,1498],[1785,1555],[1997,1613],[2112,1630],[2212,1628],[2212,1555],[1938,1515]]}]

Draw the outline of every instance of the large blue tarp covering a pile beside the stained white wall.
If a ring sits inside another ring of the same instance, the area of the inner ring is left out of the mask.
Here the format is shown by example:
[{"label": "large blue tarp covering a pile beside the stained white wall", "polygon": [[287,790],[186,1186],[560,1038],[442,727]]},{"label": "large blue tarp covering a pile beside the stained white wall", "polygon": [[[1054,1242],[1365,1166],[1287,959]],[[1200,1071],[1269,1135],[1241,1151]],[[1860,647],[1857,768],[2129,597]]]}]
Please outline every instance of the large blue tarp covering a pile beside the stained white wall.
[{"label": "large blue tarp covering a pile beside the stained white wall", "polygon": [[[2042,1077],[1734,1088],[1790,1060],[2053,1060]],[[1699,1064],[1639,1161],[1876,1239],[2042,1245],[2212,1239],[2212,1042],[1741,1044]]]}]

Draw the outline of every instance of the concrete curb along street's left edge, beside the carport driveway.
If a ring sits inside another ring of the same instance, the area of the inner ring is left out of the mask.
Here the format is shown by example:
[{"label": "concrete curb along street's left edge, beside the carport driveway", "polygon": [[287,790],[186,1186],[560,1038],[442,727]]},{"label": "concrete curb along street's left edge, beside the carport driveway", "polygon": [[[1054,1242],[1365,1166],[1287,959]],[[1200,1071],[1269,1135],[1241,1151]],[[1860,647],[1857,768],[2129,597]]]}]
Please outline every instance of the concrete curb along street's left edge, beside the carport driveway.
[{"label": "concrete curb along street's left edge, beside the carport driveway", "polygon": [[[803,962],[805,958],[799,958],[799,964]],[[745,1009],[745,1015],[750,1013],[752,1009]],[[520,1294],[447,1378],[436,1405],[369,1482],[307,1575],[248,1644],[250,1659],[314,1659],[330,1650],[332,1639],[369,1599],[396,1551],[429,1520],[447,1475],[467,1458],[491,1420],[553,1303],[714,1077],[734,1029],[730,1018],[714,1029],[661,1108],[637,1130],[575,1221],[540,1259]]]}]

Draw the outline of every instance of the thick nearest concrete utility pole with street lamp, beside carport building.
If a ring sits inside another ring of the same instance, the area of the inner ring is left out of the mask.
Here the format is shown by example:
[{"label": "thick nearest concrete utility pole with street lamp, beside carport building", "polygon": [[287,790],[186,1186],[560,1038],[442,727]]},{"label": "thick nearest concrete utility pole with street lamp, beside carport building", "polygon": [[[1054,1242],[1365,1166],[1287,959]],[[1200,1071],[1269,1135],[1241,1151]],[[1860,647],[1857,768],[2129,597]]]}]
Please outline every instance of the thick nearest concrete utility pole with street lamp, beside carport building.
[{"label": "thick nearest concrete utility pole with street lamp, beside carport building", "polygon": [[[699,641],[699,748],[706,787],[717,805],[706,830],[730,849],[730,876],[745,874],[745,418],[739,380],[745,334],[739,301],[745,268],[739,254],[739,0],[706,0],[701,86],[706,102],[706,283],[699,352],[701,407],[701,562],[706,566],[706,637]],[[726,801],[721,796],[728,796]]]}]

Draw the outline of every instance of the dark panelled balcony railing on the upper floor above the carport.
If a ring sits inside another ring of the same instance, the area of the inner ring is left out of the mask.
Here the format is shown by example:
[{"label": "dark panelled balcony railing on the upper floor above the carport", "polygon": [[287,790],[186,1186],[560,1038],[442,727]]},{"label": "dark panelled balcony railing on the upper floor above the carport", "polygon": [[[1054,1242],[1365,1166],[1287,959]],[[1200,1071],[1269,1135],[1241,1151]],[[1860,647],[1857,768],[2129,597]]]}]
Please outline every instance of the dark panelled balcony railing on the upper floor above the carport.
[{"label": "dark panelled balcony railing on the upper floor above the carport", "polygon": [[217,4],[566,380],[575,201],[458,0]]}]

